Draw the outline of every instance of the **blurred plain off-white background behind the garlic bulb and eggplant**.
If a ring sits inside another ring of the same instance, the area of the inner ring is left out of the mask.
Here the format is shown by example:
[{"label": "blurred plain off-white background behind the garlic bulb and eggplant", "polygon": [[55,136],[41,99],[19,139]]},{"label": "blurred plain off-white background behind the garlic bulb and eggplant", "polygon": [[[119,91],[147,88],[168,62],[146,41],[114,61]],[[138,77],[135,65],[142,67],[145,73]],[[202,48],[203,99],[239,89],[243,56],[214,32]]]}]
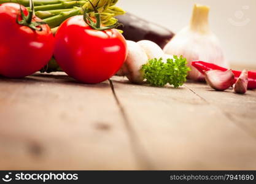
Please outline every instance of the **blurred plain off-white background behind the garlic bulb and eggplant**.
[{"label": "blurred plain off-white background behind the garlic bulb and eggplant", "polygon": [[211,7],[209,23],[227,59],[256,67],[256,0],[119,0],[118,6],[177,33],[188,25],[195,3]]}]

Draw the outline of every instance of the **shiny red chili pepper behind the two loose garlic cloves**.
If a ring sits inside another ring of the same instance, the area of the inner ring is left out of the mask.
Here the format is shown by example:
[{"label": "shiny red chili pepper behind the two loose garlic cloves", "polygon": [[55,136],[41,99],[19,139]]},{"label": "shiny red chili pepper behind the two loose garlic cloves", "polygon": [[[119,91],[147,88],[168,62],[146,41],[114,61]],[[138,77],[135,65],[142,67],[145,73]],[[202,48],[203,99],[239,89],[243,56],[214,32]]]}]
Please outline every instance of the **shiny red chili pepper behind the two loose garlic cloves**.
[{"label": "shiny red chili pepper behind the two loose garlic cloves", "polygon": [[[206,63],[204,61],[193,61],[192,66],[198,69],[198,71],[200,71],[201,74],[204,74],[204,71],[210,71],[210,70],[219,70],[219,71],[228,70],[225,67],[221,67],[212,63]],[[235,79],[237,80],[241,74],[241,71],[232,70],[232,72],[235,75]],[[248,89],[250,90],[256,89],[256,71],[248,71]]]}]

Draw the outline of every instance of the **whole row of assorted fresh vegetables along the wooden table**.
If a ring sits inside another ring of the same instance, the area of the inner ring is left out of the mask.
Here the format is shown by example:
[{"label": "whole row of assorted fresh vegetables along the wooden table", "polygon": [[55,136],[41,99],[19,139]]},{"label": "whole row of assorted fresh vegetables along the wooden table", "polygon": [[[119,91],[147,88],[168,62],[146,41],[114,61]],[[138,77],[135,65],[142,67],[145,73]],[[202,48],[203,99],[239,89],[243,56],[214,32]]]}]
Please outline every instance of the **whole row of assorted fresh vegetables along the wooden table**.
[{"label": "whole row of assorted fresh vegetables along the wooden table", "polygon": [[256,88],[256,72],[225,68],[219,41],[209,29],[209,7],[196,4],[190,26],[174,36],[130,13],[123,15],[117,1],[0,0],[0,74],[18,78],[64,71],[83,83],[117,74],[132,83],[174,88],[188,77],[205,79],[219,91],[233,86],[244,94]]}]

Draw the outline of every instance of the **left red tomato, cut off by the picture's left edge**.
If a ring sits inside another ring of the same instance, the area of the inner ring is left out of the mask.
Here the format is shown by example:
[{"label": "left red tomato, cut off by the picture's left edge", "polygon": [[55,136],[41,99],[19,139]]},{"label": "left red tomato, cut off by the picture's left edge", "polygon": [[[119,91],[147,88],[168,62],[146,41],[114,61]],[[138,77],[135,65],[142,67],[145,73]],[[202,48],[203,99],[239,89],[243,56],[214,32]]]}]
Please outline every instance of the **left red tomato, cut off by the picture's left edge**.
[{"label": "left red tomato, cut off by the picture's left edge", "polygon": [[[28,15],[28,10],[21,6]],[[53,55],[54,37],[48,25],[35,31],[16,22],[20,16],[20,5],[0,5],[0,75],[25,77],[39,71]],[[41,21],[34,17],[32,21]]]}]

